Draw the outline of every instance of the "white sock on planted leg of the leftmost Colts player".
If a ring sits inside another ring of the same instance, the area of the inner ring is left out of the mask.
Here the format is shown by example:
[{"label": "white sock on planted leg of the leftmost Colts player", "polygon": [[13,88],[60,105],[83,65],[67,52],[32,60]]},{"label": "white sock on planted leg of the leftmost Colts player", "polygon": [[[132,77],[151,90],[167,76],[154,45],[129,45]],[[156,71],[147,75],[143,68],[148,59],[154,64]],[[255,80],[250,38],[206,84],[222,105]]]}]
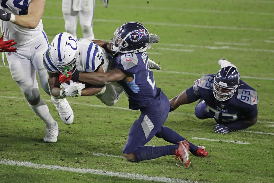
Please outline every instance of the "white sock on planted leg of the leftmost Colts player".
[{"label": "white sock on planted leg of the leftmost Colts player", "polygon": [[[29,102],[28,102],[29,104]],[[52,118],[51,114],[49,113],[49,108],[47,106],[47,104],[44,102],[44,100],[42,98],[40,98],[40,102],[33,106],[31,104],[29,104],[29,106],[31,107],[31,109],[33,110],[33,112],[35,112],[35,114],[41,118],[41,120],[43,120],[43,122],[48,125],[48,124],[54,124],[55,121]]]}]

